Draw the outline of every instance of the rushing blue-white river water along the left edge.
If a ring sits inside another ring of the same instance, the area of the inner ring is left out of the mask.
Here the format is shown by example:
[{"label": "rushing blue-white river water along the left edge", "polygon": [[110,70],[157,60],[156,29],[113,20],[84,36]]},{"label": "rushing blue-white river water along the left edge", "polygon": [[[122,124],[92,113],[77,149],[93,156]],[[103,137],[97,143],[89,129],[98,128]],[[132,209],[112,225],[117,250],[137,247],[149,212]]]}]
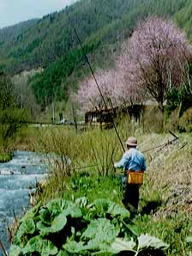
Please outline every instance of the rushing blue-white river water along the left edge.
[{"label": "rushing blue-white river water along the left edge", "polygon": [[[29,192],[47,174],[45,155],[15,151],[10,162],[0,164],[0,239],[9,248],[7,228],[16,216],[29,208]],[[3,252],[0,248],[0,256]]]}]

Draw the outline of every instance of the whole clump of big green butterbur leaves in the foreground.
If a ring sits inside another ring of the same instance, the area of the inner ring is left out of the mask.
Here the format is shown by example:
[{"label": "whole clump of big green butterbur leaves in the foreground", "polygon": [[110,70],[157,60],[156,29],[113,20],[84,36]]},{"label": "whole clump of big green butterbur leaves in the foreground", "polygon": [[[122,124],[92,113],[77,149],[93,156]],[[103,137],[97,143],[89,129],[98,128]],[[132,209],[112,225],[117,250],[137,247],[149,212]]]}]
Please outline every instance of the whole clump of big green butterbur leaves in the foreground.
[{"label": "whole clump of big green butterbur leaves in the foreground", "polygon": [[[21,220],[9,255],[115,255],[168,247],[150,235],[140,235],[135,242],[137,235],[129,232],[127,219],[129,211],[108,199],[97,199],[89,205],[85,197],[75,203],[51,200],[45,206],[37,205]],[[128,238],[131,236],[134,238]],[[186,241],[192,242],[191,236]]]}]

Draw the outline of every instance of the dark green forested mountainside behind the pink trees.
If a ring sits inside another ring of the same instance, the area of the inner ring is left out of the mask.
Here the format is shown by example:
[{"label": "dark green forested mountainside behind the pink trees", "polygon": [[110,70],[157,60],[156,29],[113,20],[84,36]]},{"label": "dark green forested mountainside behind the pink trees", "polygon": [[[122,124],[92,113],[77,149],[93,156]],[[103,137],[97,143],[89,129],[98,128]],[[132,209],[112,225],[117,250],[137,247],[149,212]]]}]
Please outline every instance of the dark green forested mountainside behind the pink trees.
[{"label": "dark green forested mountainside behind the pink trees", "polygon": [[67,101],[69,88],[76,88],[77,81],[87,76],[74,26],[93,69],[104,68],[112,64],[137,22],[147,16],[177,21],[190,38],[191,10],[190,0],[81,0],[41,20],[0,31],[0,69],[13,76],[43,68],[29,82],[44,109],[51,101]]}]

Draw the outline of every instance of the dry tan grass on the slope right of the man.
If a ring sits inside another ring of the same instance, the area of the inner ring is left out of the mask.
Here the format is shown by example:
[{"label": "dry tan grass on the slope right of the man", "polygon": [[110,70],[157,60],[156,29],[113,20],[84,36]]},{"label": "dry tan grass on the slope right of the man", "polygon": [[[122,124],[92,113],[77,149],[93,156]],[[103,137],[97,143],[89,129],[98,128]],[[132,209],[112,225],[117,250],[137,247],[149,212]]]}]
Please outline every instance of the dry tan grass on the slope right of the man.
[{"label": "dry tan grass on the slope right of the man", "polygon": [[[167,134],[153,134],[151,141],[154,145],[158,145],[166,143],[170,138],[171,135]],[[185,143],[188,144],[185,145]],[[147,190],[143,186],[142,192],[146,197],[159,194],[162,204],[165,204],[165,208],[160,210],[164,215],[178,211],[192,213],[191,155],[192,137],[190,135],[179,135],[179,140],[174,143],[147,153]]]}]

